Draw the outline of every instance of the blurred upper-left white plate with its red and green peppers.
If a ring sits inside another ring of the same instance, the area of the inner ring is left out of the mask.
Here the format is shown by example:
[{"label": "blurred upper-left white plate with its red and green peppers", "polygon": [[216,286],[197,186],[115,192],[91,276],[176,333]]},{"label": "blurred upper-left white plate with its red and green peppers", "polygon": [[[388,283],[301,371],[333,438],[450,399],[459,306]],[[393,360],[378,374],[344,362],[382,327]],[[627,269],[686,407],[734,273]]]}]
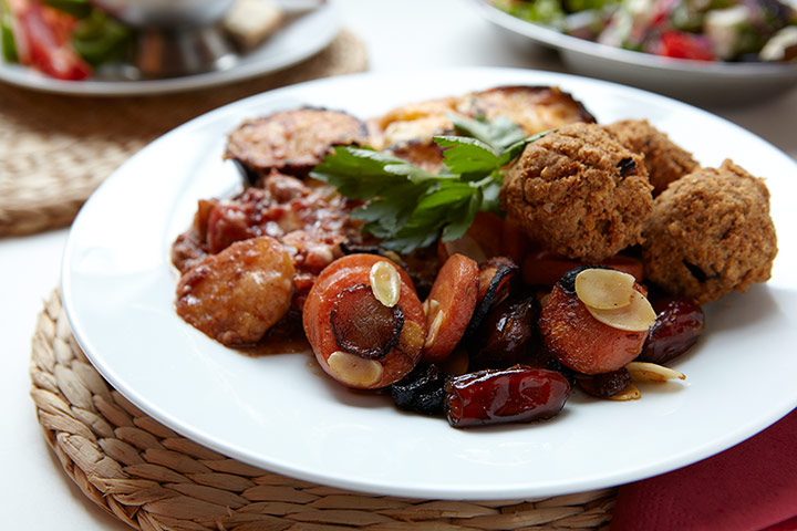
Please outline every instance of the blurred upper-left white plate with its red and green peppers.
[{"label": "blurred upper-left white plate with its red and green peppers", "polygon": [[341,27],[333,3],[292,18],[219,71],[137,79],[126,63],[135,32],[89,0],[0,0],[0,81],[46,92],[133,95],[179,92],[253,77],[296,64]]}]

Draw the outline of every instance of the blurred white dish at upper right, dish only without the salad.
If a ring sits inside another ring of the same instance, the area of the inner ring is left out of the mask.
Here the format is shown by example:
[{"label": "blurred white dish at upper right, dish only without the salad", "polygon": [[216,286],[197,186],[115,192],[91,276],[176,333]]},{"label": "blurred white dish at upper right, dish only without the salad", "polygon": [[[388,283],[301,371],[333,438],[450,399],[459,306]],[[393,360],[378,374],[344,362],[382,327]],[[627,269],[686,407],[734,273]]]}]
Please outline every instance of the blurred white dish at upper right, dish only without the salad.
[{"label": "blurred white dish at upper right, dish only without the salad", "polygon": [[488,21],[519,45],[558,50],[577,74],[624,83],[700,104],[757,103],[797,84],[797,64],[690,61],[633,52],[566,35],[472,0]]}]

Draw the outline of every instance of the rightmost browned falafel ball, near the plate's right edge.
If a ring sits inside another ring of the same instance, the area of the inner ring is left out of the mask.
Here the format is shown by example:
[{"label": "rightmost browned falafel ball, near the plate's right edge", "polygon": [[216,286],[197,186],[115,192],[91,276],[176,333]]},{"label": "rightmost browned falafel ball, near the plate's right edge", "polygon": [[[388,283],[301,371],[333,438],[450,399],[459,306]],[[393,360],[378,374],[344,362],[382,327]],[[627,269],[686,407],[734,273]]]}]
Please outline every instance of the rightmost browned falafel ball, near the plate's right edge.
[{"label": "rightmost browned falafel ball, near the plate's right edge", "polygon": [[644,237],[645,277],[701,304],[766,281],[777,254],[769,191],[729,159],[664,190]]}]

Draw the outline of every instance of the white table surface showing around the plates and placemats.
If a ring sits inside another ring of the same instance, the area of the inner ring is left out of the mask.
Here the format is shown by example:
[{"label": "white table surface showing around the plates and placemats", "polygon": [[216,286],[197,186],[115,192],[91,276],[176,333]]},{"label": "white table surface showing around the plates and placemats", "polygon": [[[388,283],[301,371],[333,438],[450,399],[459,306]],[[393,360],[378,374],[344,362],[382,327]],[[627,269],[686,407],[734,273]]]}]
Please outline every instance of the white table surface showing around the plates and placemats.
[{"label": "white table surface showing around the plates and placemats", "polygon": [[[457,0],[339,0],[345,25],[366,43],[371,71],[494,65],[561,71],[552,54],[511,46]],[[797,90],[756,105],[708,108],[797,159]],[[0,393],[0,529],[126,530],[80,492],[49,449],[29,397],[35,319],[59,282],[66,230],[0,239],[0,336],[6,345]]]}]

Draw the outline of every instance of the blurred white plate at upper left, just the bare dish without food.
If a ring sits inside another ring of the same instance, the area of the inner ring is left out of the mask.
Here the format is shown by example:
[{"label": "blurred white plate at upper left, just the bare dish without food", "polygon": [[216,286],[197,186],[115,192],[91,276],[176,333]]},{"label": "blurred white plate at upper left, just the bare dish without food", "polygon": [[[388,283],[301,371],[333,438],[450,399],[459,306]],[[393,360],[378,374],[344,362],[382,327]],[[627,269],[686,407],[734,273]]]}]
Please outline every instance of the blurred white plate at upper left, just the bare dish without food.
[{"label": "blurred white plate at upper left, just the bare dish without food", "polygon": [[332,42],[340,28],[340,10],[334,2],[325,2],[318,9],[290,20],[258,48],[239,56],[227,70],[162,80],[118,81],[93,77],[86,81],[62,81],[0,59],[0,81],[44,92],[95,96],[165,94],[207,88],[296,64]]}]

